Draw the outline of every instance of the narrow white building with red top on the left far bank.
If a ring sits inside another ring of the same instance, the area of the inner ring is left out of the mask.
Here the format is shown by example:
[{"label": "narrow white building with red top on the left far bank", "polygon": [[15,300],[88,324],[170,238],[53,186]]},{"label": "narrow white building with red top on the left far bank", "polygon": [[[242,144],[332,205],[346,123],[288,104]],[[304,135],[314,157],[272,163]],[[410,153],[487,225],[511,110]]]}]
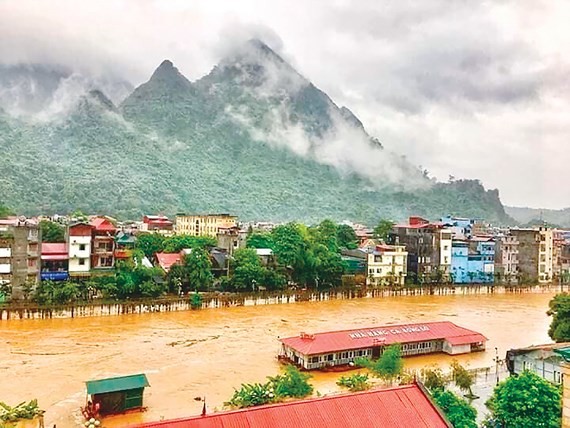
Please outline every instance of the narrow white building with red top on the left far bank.
[{"label": "narrow white building with red top on the left far bank", "polygon": [[67,228],[69,251],[69,276],[89,276],[91,271],[91,247],[93,226],[88,223],[70,224]]}]

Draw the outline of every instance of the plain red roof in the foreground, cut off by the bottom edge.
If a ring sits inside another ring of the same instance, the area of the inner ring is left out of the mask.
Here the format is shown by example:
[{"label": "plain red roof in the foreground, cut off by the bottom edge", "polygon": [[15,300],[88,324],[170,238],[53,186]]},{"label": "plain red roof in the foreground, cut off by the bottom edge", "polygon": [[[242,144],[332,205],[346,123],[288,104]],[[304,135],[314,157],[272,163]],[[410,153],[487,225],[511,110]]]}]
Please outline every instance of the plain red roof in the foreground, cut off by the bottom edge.
[{"label": "plain red roof in the foreground, cut off by the bottom edge", "polygon": [[139,428],[450,428],[418,385],[213,413]]}]

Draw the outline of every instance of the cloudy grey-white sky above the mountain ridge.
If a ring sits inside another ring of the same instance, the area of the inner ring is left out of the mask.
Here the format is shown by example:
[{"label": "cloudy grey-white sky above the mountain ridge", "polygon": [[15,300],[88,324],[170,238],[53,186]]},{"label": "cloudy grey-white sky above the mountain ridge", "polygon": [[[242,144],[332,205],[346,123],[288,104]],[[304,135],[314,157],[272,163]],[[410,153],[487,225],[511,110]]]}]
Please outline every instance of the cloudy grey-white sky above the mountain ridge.
[{"label": "cloudy grey-white sky above the mountain ridge", "polygon": [[190,80],[257,36],[385,147],[506,205],[570,206],[570,2],[0,0],[0,63]]}]

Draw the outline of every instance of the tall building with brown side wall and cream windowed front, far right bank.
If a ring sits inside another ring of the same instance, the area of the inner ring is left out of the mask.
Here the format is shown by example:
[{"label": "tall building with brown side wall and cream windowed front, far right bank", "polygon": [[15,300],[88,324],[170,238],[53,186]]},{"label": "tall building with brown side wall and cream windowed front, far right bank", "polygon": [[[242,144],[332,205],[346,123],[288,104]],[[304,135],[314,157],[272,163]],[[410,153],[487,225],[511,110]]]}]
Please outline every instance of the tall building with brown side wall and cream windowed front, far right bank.
[{"label": "tall building with brown side wall and cream windowed front, far right bank", "polygon": [[529,282],[551,282],[553,279],[552,229],[547,227],[511,229],[519,242],[519,279]]}]

